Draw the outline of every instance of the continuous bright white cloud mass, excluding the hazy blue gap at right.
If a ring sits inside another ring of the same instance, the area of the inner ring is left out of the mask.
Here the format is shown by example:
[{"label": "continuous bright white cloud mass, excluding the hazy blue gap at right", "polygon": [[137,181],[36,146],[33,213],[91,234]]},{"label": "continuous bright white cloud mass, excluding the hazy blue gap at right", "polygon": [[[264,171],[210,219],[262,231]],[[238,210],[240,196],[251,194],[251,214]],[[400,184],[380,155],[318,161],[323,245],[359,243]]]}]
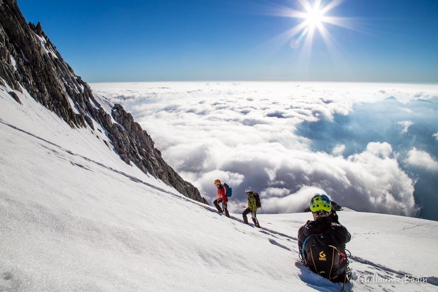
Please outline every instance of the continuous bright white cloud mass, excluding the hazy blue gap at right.
[{"label": "continuous bright white cloud mass, excluding the hazy blue gap at right", "polygon": [[[344,158],[345,145],[335,146],[333,155],[313,152],[310,139],[295,133],[304,121],[332,121],[334,115],[348,114],[354,102],[349,96],[364,94],[359,90],[364,86],[327,89],[286,82],[92,86],[131,112],[162,150],[164,160],[206,199],[216,196],[215,179],[230,183],[233,212],[241,212],[246,204],[246,186],[261,195],[263,212],[301,211],[315,190],[358,211],[417,212],[414,182],[388,143],[369,143],[361,153]],[[375,88],[365,86],[365,91],[378,95]]]}]

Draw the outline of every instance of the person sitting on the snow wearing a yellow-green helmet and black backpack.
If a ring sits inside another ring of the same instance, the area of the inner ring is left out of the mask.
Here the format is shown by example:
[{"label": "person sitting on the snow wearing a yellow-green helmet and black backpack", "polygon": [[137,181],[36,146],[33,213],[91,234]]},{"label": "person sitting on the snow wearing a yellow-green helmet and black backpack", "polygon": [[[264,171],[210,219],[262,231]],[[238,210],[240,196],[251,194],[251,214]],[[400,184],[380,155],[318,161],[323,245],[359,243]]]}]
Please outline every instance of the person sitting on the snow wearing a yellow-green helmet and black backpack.
[{"label": "person sitting on the snow wearing a yellow-green helmet and black backpack", "polygon": [[333,282],[350,278],[345,245],[351,239],[347,228],[333,216],[329,197],[315,195],[310,201],[313,221],[298,230],[298,248],[305,266]]}]

